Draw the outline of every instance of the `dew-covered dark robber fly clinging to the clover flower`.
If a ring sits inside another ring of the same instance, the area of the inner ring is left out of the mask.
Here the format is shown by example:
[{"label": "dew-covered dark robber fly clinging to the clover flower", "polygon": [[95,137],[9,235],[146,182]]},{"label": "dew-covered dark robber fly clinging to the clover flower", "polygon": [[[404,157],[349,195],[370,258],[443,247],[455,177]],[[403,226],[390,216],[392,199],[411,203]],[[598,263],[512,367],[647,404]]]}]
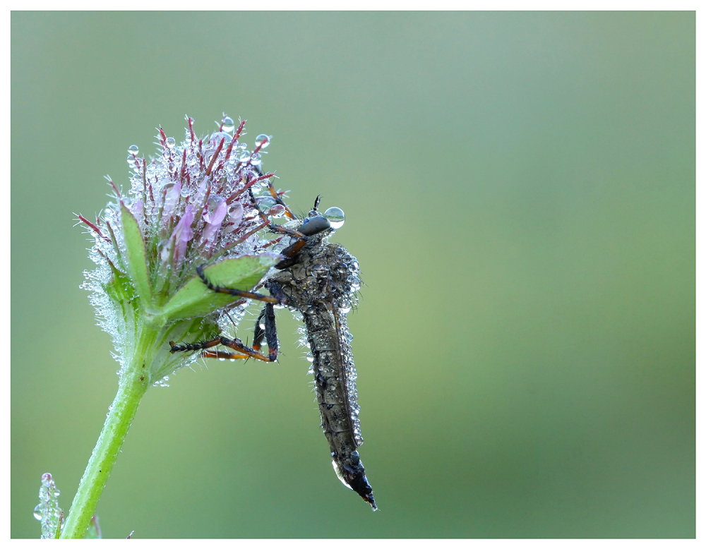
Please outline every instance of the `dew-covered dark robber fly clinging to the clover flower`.
[{"label": "dew-covered dark robber fly clinging to the clover flower", "polygon": [[[253,204],[263,219],[265,214],[251,194]],[[270,186],[275,201],[285,207],[287,216],[297,219]],[[376,510],[373,489],[365,476],[357,448],[363,444],[358,413],[356,370],[348,331],[346,315],[357,301],[360,288],[358,262],[345,248],[329,243],[329,237],[343,224],[343,212],[329,208],[322,215],[318,211],[320,197],[313,210],[304,219],[297,219],[296,228],[268,224],[271,231],[289,236],[289,246],[281,254],[284,259],[275,265],[275,273],[264,286],[270,295],[222,288],[210,282],[203,266],[196,272],[211,291],[264,301],[265,306],[255,323],[253,346],[246,346],[240,339],[219,336],[206,342],[174,344],[172,353],[201,351],[206,358],[257,358],[265,362],[277,360],[277,328],[275,305],[287,306],[301,313],[306,330],[306,340],[311,349],[310,372],[321,427],[326,435],[333,458],[335,472],[348,488],[355,490],[373,510]],[[261,352],[263,340],[267,341],[268,355]],[[233,351],[213,350],[225,346]]]}]

